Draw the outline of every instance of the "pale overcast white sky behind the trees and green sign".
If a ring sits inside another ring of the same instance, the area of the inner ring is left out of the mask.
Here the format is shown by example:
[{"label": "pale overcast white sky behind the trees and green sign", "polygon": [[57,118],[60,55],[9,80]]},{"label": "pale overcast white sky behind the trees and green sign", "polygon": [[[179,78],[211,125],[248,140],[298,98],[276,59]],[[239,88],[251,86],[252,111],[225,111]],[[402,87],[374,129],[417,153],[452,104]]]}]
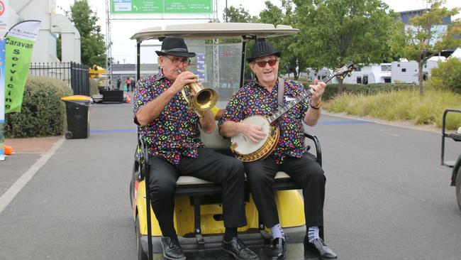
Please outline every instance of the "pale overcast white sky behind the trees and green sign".
[{"label": "pale overcast white sky behind the trees and green sign", "polygon": [[[74,0],[55,0],[58,6],[57,12],[62,13],[62,9],[70,10],[70,5]],[[102,32],[106,33],[106,5],[105,0],[88,0],[93,11],[96,11],[99,16],[99,25]],[[273,4],[280,6],[280,0],[270,0]],[[228,6],[238,7],[240,4],[244,9],[248,10],[252,16],[257,16],[262,9],[265,8],[265,0],[227,0]],[[384,0],[394,11],[409,11],[426,8],[426,0]],[[445,6],[448,8],[461,7],[460,0],[448,0]],[[223,21],[222,13],[226,7],[226,0],[218,0],[218,18]],[[113,16],[115,17],[115,16]],[[458,15],[456,18],[459,18]],[[130,40],[134,33],[142,28],[153,26],[165,26],[167,24],[182,24],[182,23],[204,23],[206,20],[112,20],[111,21],[111,38],[112,38],[112,56],[115,61],[120,63],[135,63],[136,48],[135,40]],[[158,43],[152,41],[152,44]],[[156,63],[157,56],[154,50],[158,48],[143,48],[141,53],[142,63]]]}]

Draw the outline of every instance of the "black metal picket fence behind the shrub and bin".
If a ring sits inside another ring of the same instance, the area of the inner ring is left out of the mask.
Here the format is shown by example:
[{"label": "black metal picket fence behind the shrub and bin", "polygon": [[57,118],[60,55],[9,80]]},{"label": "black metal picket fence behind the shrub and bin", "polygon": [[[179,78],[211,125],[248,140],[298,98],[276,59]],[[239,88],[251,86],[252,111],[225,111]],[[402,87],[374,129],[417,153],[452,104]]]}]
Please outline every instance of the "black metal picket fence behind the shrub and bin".
[{"label": "black metal picket fence behind the shrub and bin", "polygon": [[88,66],[79,63],[30,63],[29,75],[67,82],[74,94],[89,96]]}]

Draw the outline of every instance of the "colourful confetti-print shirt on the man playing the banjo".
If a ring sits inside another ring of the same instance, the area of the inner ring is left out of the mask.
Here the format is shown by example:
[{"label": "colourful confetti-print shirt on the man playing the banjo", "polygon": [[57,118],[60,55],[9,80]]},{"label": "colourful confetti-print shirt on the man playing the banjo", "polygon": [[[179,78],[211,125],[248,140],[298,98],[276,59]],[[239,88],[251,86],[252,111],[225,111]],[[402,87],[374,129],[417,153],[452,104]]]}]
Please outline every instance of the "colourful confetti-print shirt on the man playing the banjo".
[{"label": "colourful confetti-print shirt on the man playing the banjo", "polygon": [[[275,83],[272,92],[260,86],[256,80],[248,83],[230,99],[226,112],[219,120],[221,126],[225,121],[239,122],[254,115],[267,115],[277,112],[278,85]],[[305,92],[304,86],[294,80],[284,82],[284,104]],[[304,99],[290,109],[277,121],[280,129],[279,143],[272,152],[277,164],[281,164],[287,156],[301,158],[306,148],[304,147],[304,127],[302,120],[309,107],[308,100]]]}]

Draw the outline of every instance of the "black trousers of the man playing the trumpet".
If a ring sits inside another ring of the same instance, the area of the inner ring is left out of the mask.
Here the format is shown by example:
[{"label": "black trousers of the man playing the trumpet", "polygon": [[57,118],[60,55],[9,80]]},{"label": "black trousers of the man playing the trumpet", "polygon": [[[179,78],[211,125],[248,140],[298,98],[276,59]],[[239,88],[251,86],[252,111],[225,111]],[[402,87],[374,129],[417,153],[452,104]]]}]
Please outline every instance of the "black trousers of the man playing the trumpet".
[{"label": "black trousers of the man playing the trumpet", "polygon": [[191,175],[222,185],[223,219],[225,227],[243,227],[245,218],[245,174],[243,163],[217,153],[211,148],[199,148],[199,157],[182,156],[178,166],[163,158],[150,156],[150,199],[152,210],[164,235],[174,231],[174,193],[180,175]]}]

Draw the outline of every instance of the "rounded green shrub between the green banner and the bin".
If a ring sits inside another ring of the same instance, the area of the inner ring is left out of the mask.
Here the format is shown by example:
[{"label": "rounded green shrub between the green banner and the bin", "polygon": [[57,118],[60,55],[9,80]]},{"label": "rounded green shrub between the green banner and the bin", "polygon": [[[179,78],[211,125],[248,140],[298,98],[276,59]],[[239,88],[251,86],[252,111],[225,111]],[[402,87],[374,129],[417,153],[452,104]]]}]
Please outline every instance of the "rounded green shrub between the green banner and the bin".
[{"label": "rounded green shrub between the green banner and the bin", "polygon": [[21,113],[6,114],[6,137],[57,136],[67,126],[65,103],[60,97],[72,89],[49,77],[28,77]]}]

